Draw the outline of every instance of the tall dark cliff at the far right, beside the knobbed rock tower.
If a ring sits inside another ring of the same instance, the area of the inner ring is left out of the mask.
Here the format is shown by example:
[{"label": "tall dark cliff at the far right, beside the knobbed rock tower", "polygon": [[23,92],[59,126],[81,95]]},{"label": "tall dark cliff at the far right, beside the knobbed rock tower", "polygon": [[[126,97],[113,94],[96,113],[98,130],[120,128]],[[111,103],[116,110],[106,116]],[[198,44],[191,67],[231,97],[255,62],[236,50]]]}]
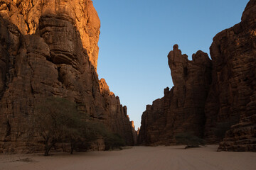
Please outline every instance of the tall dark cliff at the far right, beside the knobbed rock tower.
[{"label": "tall dark cliff at the far right, beside the knobbed rock tower", "polygon": [[[210,46],[213,84],[206,101],[206,140],[219,142],[214,130],[234,125],[255,112],[256,4],[250,1],[241,23],[215,35]],[[219,127],[220,126],[220,127]]]}]

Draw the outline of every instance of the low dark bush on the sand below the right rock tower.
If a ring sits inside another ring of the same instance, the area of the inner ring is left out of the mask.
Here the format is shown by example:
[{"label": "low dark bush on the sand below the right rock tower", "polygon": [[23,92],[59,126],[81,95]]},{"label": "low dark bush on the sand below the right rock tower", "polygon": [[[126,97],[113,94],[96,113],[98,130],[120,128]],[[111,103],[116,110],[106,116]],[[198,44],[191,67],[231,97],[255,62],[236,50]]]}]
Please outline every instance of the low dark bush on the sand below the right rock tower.
[{"label": "low dark bush on the sand below the right rock tower", "polygon": [[191,132],[183,132],[175,135],[175,139],[178,144],[186,145],[185,149],[188,147],[199,147],[199,145],[206,145],[206,142],[193,135]]}]

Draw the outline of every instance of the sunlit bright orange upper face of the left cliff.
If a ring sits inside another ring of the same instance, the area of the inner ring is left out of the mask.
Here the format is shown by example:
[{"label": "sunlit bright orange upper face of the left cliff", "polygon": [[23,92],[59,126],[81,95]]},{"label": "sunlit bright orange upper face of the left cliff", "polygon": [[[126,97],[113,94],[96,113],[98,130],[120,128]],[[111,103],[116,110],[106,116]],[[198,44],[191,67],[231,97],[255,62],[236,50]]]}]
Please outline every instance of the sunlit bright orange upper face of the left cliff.
[{"label": "sunlit bright orange upper face of the left cliff", "polygon": [[56,15],[70,18],[80,34],[82,47],[87,51],[93,67],[97,69],[100,19],[91,0],[2,0],[0,15],[14,23],[23,35],[36,33],[41,16]]}]

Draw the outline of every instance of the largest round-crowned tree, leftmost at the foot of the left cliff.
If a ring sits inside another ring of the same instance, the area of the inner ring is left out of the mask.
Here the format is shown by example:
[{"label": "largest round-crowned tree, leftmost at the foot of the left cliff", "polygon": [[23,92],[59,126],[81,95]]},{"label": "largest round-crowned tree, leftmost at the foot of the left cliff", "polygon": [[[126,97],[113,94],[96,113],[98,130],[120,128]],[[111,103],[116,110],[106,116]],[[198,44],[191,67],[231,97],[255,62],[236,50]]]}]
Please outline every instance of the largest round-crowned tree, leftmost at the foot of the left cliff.
[{"label": "largest round-crowned tree, leftmost at the foot of the left cliff", "polygon": [[50,149],[63,139],[80,136],[79,113],[75,103],[65,98],[50,97],[38,103],[32,115],[33,132],[43,137],[45,156]]}]

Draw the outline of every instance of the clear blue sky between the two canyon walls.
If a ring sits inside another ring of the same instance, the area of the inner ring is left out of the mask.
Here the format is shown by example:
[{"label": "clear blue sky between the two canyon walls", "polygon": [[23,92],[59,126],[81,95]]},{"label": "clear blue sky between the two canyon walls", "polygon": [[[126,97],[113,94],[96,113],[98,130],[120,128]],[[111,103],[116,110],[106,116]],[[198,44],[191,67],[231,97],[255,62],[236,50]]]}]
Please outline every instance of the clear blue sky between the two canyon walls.
[{"label": "clear blue sky between the two canyon walls", "polygon": [[173,86],[167,55],[209,54],[213,37],[240,22],[249,0],[92,0],[100,17],[97,72],[140,127],[147,104]]}]

